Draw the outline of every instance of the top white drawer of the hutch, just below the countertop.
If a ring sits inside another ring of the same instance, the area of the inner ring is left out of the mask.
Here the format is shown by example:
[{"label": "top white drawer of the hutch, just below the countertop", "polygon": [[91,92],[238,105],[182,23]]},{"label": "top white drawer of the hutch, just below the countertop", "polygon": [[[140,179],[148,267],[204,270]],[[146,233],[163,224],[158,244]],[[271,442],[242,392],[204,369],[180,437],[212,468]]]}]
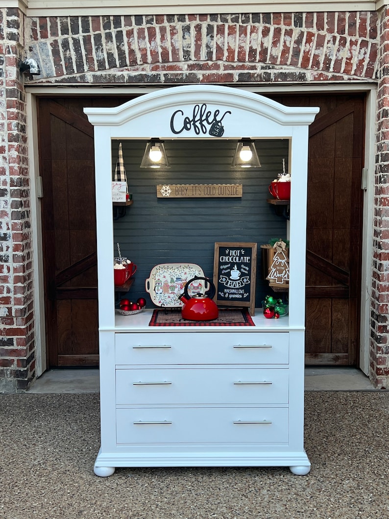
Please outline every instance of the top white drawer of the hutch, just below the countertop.
[{"label": "top white drawer of the hutch, just below the countertop", "polygon": [[116,364],[287,364],[287,332],[117,333]]}]

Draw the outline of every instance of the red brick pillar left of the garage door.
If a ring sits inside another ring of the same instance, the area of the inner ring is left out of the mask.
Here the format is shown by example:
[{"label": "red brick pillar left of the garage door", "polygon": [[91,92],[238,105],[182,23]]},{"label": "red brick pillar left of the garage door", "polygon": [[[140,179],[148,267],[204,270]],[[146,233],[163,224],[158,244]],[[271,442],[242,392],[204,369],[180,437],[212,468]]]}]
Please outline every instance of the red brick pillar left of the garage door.
[{"label": "red brick pillar left of the garage door", "polygon": [[18,9],[0,10],[0,390],[35,375],[30,182]]}]

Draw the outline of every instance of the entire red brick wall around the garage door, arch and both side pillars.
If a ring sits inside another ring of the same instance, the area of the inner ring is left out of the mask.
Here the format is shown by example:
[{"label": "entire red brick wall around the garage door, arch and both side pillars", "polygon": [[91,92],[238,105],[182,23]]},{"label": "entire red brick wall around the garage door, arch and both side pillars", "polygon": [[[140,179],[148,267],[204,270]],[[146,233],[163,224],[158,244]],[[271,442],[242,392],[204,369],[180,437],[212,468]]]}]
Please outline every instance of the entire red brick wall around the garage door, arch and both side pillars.
[{"label": "entire red brick wall around the garage door, arch and both side pillars", "polygon": [[35,367],[25,106],[17,70],[23,53],[42,72],[24,82],[45,85],[378,81],[371,377],[378,387],[389,385],[386,11],[23,20],[16,9],[0,9],[0,16],[0,389],[24,389]]}]

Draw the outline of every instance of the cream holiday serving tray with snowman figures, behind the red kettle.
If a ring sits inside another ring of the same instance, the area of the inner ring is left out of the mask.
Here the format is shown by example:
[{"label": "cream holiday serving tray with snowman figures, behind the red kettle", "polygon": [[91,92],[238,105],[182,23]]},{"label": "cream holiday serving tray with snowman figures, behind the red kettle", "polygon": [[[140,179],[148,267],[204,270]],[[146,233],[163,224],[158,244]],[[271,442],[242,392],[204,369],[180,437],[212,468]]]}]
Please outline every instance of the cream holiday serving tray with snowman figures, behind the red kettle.
[{"label": "cream holiday serving tray with snowman figures, behind the red kettle", "polygon": [[[150,277],[146,279],[146,291],[157,306],[180,307],[183,303],[178,296],[184,292],[186,283],[195,276],[204,277],[202,268],[195,263],[161,263],[151,269]],[[204,288],[204,280],[200,279],[191,283],[188,293],[204,293],[207,288]]]}]

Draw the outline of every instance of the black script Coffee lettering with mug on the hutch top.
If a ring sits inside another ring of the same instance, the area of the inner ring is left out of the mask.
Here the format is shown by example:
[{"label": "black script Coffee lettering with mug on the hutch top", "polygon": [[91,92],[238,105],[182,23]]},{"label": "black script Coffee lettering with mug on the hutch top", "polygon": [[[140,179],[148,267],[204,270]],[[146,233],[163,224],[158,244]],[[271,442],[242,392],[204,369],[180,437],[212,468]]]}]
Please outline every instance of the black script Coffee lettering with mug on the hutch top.
[{"label": "black script Coffee lettering with mug on the hutch top", "polygon": [[227,114],[231,114],[231,112],[227,110],[220,117],[220,110],[215,110],[212,113],[211,110],[207,110],[205,103],[201,106],[196,104],[193,106],[191,117],[185,116],[182,110],[176,110],[170,119],[170,129],[176,135],[184,130],[190,131],[193,129],[196,135],[209,133],[213,137],[221,137],[224,133],[221,121]]}]

